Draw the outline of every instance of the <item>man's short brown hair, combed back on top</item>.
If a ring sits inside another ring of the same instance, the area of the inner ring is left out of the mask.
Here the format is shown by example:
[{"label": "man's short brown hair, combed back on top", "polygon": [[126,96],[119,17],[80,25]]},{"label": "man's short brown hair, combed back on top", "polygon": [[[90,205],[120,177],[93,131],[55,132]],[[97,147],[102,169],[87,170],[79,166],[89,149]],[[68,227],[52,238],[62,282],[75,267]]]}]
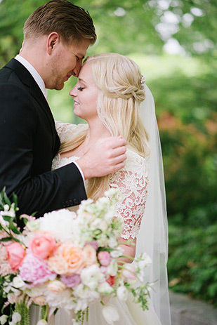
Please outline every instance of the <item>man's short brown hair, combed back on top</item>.
[{"label": "man's short brown hair, combed back on top", "polygon": [[66,44],[79,44],[83,39],[89,39],[90,44],[96,41],[95,27],[88,11],[68,0],[51,0],[37,8],[23,28],[25,40],[51,32],[57,32]]}]

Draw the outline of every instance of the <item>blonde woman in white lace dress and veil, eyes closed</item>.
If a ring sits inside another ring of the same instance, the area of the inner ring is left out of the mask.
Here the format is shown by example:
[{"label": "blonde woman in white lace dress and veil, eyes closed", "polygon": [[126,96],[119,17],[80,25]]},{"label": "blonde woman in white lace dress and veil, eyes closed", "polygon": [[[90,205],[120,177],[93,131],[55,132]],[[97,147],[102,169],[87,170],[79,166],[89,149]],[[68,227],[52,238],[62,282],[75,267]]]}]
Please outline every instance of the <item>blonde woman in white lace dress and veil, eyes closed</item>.
[{"label": "blonde woman in white lace dress and veil, eyes closed", "polygon": [[[74,114],[88,124],[56,123],[61,146],[53,160],[53,169],[83,157],[99,138],[121,135],[127,142],[124,168],[85,181],[87,197],[94,200],[102,197],[109,187],[121,190],[124,200],[117,204],[117,215],[124,219],[120,239],[124,255],[134,257],[136,253],[146,251],[152,258],[152,269],[145,274],[145,281],[154,283],[151,295],[154,307],[150,303],[149,310],[143,312],[131,297],[126,303],[112,298],[109,303],[119,312],[116,325],[171,324],[166,274],[164,179],[160,170],[162,158],[154,102],[144,82],[136,63],[123,55],[102,53],[88,57],[81,67],[76,86],[70,91],[74,98]],[[132,239],[135,245],[127,244],[127,239]],[[131,263],[128,258],[122,260]],[[100,303],[89,307],[89,325],[107,324],[102,308]],[[33,307],[31,324],[38,320],[39,308]],[[72,314],[59,310],[55,316],[51,315],[48,324],[70,325]]]}]

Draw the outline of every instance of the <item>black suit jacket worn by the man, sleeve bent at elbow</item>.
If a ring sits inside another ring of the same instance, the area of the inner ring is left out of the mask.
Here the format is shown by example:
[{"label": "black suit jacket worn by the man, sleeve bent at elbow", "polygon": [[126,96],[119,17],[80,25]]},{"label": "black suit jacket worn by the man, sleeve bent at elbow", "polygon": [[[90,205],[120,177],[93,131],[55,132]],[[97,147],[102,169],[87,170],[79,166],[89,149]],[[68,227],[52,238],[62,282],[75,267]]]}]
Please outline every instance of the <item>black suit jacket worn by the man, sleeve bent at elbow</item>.
[{"label": "black suit jacket worn by the man, sleeve bent at elbow", "polygon": [[18,195],[20,213],[37,215],[86,199],[77,166],[51,171],[60,140],[32,75],[15,59],[0,70],[0,190]]}]

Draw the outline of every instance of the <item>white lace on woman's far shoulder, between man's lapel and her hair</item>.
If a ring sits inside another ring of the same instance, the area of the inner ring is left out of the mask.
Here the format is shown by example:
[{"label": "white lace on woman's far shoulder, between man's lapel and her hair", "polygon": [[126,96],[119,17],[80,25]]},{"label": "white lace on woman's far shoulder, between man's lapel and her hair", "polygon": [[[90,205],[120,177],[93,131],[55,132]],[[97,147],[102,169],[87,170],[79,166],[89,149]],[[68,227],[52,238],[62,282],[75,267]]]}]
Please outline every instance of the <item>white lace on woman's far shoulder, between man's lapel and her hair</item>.
[{"label": "white lace on woman's far shoulder, between man's lapel and her hair", "polygon": [[55,128],[60,137],[60,142],[71,140],[72,135],[76,135],[80,131],[88,128],[88,124],[70,124],[55,121]]}]

